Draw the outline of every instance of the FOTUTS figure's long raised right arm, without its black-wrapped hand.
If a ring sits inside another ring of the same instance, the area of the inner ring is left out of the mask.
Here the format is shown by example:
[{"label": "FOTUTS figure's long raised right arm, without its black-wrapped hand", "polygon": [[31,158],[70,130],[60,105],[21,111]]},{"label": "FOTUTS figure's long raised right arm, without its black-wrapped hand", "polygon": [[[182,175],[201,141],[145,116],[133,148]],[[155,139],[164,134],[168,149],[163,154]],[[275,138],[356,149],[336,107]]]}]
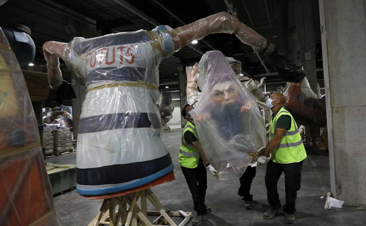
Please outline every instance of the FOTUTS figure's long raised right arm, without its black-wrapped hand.
[{"label": "FOTUTS figure's long raised right arm, without its black-wrapped hand", "polygon": [[266,47],[267,42],[264,37],[227,12],[210,15],[188,25],[178,27],[174,31],[173,42],[175,51],[190,44],[193,40],[200,40],[212,33],[236,34],[240,41],[258,51],[262,51]]}]

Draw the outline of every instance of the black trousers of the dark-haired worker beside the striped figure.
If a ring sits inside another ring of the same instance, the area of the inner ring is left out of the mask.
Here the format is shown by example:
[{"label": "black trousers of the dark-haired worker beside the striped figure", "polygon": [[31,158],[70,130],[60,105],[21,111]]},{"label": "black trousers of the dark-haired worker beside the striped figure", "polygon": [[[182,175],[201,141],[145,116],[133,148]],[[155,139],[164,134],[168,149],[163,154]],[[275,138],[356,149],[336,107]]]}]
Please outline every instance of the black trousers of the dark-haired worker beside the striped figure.
[{"label": "black trousers of the dark-haired worker beside the striped figure", "polygon": [[182,168],[187,185],[191,191],[193,198],[194,210],[197,215],[206,215],[205,196],[207,189],[207,172],[201,158],[199,158],[198,166],[196,168]]}]

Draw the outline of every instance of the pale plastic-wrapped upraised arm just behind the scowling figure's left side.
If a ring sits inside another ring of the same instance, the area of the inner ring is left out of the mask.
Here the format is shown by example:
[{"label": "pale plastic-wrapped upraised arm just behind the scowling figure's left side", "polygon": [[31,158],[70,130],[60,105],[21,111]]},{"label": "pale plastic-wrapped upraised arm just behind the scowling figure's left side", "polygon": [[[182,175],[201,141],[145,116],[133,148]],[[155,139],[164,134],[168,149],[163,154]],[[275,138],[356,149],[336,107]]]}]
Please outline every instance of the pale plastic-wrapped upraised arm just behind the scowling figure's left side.
[{"label": "pale plastic-wrapped upraised arm just behind the scowling figure's left side", "polygon": [[197,70],[198,63],[195,63],[191,67],[186,67],[187,73],[187,103],[192,107],[195,107],[198,102],[199,97],[201,96],[201,92],[198,90],[197,85]]}]

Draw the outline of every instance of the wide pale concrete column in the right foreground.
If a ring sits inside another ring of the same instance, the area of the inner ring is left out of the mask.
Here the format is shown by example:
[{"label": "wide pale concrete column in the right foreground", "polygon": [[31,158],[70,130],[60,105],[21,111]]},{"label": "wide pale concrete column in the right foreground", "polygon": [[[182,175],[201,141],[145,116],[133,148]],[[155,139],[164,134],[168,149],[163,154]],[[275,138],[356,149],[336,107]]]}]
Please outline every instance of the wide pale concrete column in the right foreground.
[{"label": "wide pale concrete column in the right foreground", "polygon": [[366,206],[366,3],[319,0],[333,197]]}]

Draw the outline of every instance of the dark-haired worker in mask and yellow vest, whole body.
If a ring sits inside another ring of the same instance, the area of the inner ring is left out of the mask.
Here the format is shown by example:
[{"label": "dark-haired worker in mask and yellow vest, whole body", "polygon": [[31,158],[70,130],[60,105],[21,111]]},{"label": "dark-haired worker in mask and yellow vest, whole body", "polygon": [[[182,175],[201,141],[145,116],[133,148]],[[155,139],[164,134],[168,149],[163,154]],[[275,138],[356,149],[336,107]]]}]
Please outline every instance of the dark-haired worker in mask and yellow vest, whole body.
[{"label": "dark-haired worker in mask and yellow vest, whole body", "polygon": [[184,105],[182,109],[182,116],[187,119],[187,125],[182,134],[179,164],[192,194],[194,210],[197,211],[197,217],[193,220],[192,225],[200,225],[207,219],[207,212],[212,211],[211,207],[205,204],[206,168],[212,175],[215,175],[217,170],[208,163],[205,152],[203,152],[193,121],[193,110],[189,104]]}]

